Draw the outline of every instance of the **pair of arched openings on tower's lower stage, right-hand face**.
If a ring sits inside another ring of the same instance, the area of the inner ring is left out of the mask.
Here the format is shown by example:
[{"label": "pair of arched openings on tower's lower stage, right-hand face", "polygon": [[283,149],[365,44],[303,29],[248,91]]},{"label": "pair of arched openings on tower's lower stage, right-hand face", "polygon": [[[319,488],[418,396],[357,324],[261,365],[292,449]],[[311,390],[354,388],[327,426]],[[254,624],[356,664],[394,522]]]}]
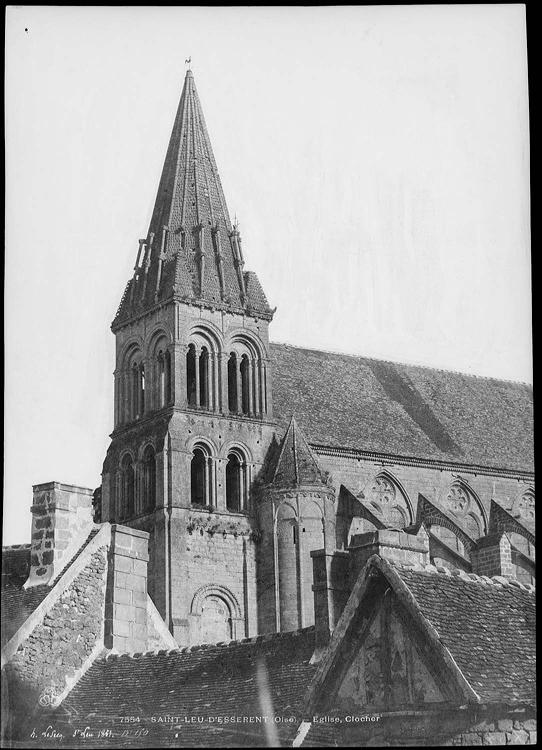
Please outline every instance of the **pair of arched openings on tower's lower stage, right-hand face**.
[{"label": "pair of arched openings on tower's lower stage, right-hand face", "polygon": [[[217,482],[217,461],[211,456],[208,447],[198,444],[192,451],[190,462],[190,500],[192,505],[216,508],[218,498],[216,487],[223,486]],[[243,453],[232,450],[225,465],[225,505],[233,513],[247,510],[249,471]]]}]

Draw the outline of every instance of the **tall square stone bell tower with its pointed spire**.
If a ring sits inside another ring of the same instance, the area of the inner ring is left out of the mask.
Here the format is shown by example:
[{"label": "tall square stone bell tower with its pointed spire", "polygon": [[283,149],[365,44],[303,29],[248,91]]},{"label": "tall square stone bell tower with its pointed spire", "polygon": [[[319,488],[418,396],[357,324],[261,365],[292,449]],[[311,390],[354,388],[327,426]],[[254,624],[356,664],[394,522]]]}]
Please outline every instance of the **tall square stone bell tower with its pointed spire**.
[{"label": "tall square stone bell tower with its pointed spire", "polygon": [[147,235],[112,323],[101,520],[148,531],[149,593],[179,645],[257,632],[251,485],[274,434],[268,326],[186,74]]}]

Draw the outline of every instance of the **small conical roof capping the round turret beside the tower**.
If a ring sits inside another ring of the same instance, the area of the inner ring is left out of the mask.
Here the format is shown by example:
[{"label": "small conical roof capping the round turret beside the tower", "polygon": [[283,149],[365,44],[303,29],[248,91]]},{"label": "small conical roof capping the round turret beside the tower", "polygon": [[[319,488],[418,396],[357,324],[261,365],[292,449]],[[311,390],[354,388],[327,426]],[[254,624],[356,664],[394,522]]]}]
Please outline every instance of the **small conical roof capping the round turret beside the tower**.
[{"label": "small conical roof capping the round turret beside the tower", "polygon": [[318,459],[293,415],[282,439],[277,463],[271,476],[272,483],[277,489],[327,484]]}]

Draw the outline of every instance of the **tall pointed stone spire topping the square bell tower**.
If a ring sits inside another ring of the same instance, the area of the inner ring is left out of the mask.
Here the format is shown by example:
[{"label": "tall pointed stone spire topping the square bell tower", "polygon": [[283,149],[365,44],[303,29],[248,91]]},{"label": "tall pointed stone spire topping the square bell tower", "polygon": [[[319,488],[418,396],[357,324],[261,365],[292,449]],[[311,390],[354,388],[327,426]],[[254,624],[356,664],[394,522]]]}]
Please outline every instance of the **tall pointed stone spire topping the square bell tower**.
[{"label": "tall pointed stone spire topping the square bell tower", "polygon": [[271,319],[254,274],[243,270],[239,231],[230,221],[190,69],[144,243],[115,324],[173,297]]}]

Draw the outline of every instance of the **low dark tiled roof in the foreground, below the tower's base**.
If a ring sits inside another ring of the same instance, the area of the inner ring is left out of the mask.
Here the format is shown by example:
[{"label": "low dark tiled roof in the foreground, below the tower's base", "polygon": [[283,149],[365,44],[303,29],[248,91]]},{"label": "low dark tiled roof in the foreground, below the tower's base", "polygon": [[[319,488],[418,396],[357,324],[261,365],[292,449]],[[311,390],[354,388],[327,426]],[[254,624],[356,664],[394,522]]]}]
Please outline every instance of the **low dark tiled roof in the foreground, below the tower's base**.
[{"label": "low dark tiled roof in the foreground, below the tower's base", "polygon": [[[95,662],[59,708],[53,722],[72,717],[74,728],[112,728],[106,738],[81,739],[81,747],[265,747],[265,724],[239,721],[263,715],[258,664],[267,676],[272,711],[282,746],[291,743],[297,715],[315,667],[314,629],[258,636],[228,644],[193,646]],[[131,730],[148,734],[123,738],[119,717],[139,716]],[[115,720],[115,717],[117,719]],[[155,717],[155,720],[152,720]],[[158,722],[158,717],[178,717]],[[191,717],[191,723],[185,722]],[[209,721],[209,717],[212,720]],[[228,717],[238,717],[235,723]],[[202,719],[200,723],[200,719]],[[220,720],[221,719],[221,720]],[[71,734],[71,733],[70,733]],[[70,747],[79,747],[73,740]]]}]

